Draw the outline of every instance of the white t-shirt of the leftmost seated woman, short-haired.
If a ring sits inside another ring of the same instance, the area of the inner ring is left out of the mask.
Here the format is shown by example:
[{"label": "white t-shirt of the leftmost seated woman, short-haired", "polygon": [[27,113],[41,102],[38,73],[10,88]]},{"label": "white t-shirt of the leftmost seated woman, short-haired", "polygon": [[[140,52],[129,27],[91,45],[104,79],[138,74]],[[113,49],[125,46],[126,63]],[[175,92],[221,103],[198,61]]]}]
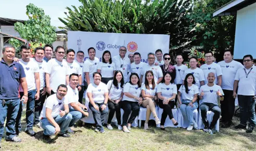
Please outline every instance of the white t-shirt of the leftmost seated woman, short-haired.
[{"label": "white t-shirt of the leftmost seated woman, short-haired", "polygon": [[95,103],[103,103],[105,99],[104,93],[106,92],[108,92],[107,86],[102,82],[99,85],[91,83],[86,90],[86,94],[92,93],[92,99]]}]

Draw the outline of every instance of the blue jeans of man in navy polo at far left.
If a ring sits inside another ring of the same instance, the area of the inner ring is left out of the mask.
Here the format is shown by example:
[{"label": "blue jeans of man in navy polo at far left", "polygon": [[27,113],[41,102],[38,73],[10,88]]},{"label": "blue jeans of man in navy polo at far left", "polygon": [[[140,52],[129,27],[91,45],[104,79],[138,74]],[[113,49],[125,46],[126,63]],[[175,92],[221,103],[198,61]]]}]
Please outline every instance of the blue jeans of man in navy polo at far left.
[{"label": "blue jeans of man in navy polo at far left", "polygon": [[4,123],[6,120],[6,136],[12,139],[15,136],[15,122],[19,111],[20,99],[5,100],[0,99],[0,142],[4,134]]}]

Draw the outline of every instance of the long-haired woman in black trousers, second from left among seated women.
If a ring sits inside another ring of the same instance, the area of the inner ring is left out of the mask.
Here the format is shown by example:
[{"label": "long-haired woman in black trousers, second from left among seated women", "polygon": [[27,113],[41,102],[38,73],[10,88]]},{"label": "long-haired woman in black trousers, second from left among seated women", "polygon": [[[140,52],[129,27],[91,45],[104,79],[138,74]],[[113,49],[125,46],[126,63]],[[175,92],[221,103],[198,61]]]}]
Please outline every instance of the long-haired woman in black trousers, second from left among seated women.
[{"label": "long-haired woman in black trousers, second from left among seated women", "polygon": [[123,99],[123,88],[124,88],[124,76],[121,71],[116,71],[114,75],[114,79],[108,81],[107,89],[108,89],[108,120],[107,120],[107,128],[112,130],[113,127],[111,126],[112,118],[116,112],[116,119],[117,119],[117,128],[118,130],[122,130],[121,127],[121,112],[120,112],[120,104],[121,100]]}]

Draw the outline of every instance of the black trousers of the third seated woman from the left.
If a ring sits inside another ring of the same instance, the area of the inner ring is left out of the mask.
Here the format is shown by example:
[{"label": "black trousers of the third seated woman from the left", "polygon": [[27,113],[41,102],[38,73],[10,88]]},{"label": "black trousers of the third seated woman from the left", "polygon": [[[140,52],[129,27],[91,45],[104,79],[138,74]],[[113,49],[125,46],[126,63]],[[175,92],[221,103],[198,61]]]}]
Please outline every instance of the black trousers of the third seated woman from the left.
[{"label": "black trousers of the third seated woman from the left", "polygon": [[[124,109],[123,126],[127,126],[127,123],[132,124],[140,112],[140,106],[138,105],[138,102],[122,101],[122,108]],[[131,116],[129,118],[130,114]]]}]

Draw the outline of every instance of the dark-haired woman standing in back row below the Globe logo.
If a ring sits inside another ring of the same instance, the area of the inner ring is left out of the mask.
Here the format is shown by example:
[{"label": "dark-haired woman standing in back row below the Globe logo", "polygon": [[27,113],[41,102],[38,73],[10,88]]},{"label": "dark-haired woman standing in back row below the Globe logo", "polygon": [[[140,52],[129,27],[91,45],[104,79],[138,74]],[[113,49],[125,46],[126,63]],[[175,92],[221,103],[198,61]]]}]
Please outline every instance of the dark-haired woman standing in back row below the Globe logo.
[{"label": "dark-haired woman standing in back row below the Globe logo", "polygon": [[116,65],[112,62],[111,53],[106,50],[102,54],[102,62],[97,65],[97,72],[102,74],[101,81],[107,84],[109,80],[113,80],[114,73],[116,72]]}]

